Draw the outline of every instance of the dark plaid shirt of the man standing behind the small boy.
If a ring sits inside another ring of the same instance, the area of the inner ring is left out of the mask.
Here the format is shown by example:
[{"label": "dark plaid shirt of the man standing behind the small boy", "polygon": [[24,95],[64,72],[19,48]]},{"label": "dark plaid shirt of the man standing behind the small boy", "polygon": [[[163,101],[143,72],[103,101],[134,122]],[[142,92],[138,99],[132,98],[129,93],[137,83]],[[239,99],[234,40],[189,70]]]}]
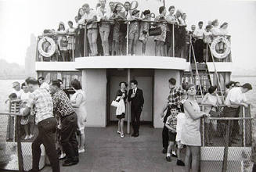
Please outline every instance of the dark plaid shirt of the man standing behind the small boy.
[{"label": "dark plaid shirt of the man standing behind the small boy", "polygon": [[182,94],[184,94],[184,90],[182,88],[171,88],[170,95],[168,96],[168,106],[176,105],[180,108]]}]

